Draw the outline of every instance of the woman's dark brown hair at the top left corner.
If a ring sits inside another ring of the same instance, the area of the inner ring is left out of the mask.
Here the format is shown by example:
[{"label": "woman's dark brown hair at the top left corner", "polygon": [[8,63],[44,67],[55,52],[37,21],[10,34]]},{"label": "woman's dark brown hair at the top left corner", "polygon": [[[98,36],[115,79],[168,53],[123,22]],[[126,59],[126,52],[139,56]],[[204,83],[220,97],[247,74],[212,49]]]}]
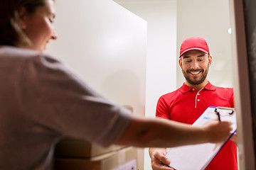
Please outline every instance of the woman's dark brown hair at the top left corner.
[{"label": "woman's dark brown hair at the top left corner", "polygon": [[21,10],[33,14],[46,0],[2,0],[0,6],[0,45],[28,47],[31,41],[21,29]]}]

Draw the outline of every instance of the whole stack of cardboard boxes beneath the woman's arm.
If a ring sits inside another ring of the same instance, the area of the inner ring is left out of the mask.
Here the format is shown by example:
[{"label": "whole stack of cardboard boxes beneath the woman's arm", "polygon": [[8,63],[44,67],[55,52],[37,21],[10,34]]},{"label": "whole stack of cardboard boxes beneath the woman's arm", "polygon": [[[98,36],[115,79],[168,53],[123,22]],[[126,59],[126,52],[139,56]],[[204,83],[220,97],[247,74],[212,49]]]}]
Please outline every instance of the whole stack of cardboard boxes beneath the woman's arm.
[{"label": "whole stack of cardboard boxes beneath the woman's arm", "polygon": [[95,143],[65,138],[55,147],[54,169],[65,170],[137,170],[136,147]]}]

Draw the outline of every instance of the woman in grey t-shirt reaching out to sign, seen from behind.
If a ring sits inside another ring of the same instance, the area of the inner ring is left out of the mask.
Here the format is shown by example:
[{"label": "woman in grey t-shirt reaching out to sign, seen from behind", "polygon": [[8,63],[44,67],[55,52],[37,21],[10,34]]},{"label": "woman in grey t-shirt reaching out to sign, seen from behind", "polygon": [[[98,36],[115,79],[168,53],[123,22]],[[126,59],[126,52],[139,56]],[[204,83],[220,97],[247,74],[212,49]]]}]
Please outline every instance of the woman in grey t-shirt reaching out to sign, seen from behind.
[{"label": "woman in grey t-shirt reaching out to sign, seen from behind", "polygon": [[228,122],[196,128],[132,116],[44,55],[48,41],[57,38],[53,0],[4,0],[0,14],[0,169],[48,169],[63,136],[137,147],[228,137]]}]

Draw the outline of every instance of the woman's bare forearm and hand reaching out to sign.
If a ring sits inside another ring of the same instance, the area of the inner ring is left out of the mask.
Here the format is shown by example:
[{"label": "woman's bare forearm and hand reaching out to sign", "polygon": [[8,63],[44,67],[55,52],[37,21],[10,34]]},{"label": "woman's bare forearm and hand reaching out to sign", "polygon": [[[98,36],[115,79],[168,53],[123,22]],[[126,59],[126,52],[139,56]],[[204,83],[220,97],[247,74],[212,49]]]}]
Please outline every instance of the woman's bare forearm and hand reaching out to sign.
[{"label": "woman's bare forearm and hand reaching out to sign", "polygon": [[231,123],[210,120],[203,127],[193,127],[172,120],[132,116],[127,130],[117,145],[135,147],[177,147],[204,142],[222,142],[228,139]]}]

